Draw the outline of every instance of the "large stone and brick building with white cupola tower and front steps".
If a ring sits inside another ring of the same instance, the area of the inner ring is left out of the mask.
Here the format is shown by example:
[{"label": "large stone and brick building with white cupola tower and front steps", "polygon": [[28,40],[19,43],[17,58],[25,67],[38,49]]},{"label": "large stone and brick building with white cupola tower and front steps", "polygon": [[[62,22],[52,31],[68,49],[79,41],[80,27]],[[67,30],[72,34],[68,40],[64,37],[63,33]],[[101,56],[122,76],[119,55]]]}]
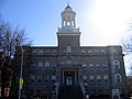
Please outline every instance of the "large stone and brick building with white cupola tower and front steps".
[{"label": "large stone and brick building with white cupola tower and front steps", "polygon": [[[124,95],[125,70],[120,45],[80,46],[76,13],[67,6],[62,12],[57,46],[24,48],[22,95],[42,99],[82,99]],[[21,53],[16,53],[20,57]]]}]

